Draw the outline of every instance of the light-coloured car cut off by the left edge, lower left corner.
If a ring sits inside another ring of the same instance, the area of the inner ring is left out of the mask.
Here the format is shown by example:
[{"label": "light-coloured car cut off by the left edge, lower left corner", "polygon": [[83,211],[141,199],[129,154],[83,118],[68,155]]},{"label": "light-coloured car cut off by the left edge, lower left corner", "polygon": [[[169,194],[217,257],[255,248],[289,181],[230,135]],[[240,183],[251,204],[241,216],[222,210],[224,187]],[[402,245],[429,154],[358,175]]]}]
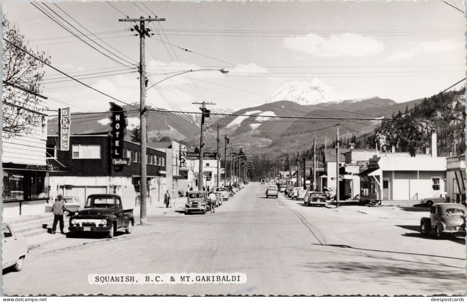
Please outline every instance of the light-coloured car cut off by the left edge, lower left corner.
[{"label": "light-coloured car cut off by the left edge, lower left corner", "polygon": [[15,236],[13,229],[8,224],[2,224],[2,258],[1,267],[13,267],[17,272],[23,268],[23,260],[28,253],[28,244],[23,236]]}]

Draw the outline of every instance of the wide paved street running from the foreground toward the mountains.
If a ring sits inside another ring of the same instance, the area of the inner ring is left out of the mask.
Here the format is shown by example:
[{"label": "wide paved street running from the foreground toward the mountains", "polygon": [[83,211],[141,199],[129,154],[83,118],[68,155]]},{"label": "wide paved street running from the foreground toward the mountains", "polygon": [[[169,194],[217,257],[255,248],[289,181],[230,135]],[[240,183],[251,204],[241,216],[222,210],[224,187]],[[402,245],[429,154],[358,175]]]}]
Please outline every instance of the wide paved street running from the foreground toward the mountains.
[{"label": "wide paved street running from the foreground toward the mountains", "polygon": [[[130,235],[31,251],[7,295],[436,295],[466,290],[465,241],[418,232],[425,208],[304,206],[250,183],[215,214],[149,218]],[[91,286],[88,274],[245,273],[246,284]]]}]

